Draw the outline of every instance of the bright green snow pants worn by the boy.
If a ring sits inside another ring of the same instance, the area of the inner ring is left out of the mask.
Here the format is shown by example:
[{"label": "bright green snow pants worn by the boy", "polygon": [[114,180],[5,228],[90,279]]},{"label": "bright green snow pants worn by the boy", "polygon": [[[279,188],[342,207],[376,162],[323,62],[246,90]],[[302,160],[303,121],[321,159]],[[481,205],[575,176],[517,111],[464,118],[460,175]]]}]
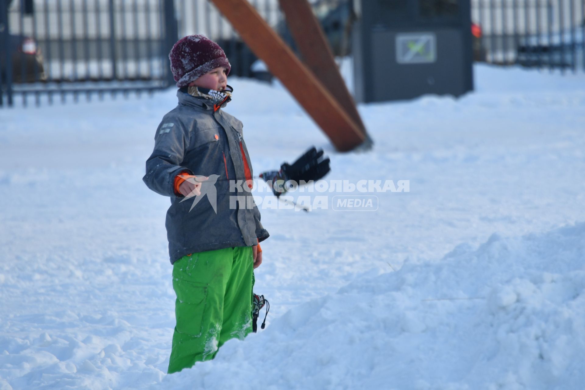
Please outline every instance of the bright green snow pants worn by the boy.
[{"label": "bright green snow pants worn by the boy", "polygon": [[230,247],[173,264],[177,325],[168,374],[211,360],[227,340],[252,332],[252,256],[252,247]]}]

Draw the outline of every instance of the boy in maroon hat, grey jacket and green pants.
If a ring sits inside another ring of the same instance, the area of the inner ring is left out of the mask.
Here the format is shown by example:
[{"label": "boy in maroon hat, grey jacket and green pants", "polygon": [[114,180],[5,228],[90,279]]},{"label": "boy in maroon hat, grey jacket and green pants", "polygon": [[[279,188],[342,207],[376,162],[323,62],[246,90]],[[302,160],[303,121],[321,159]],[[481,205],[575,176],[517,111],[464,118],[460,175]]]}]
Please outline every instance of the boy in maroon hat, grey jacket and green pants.
[{"label": "boy in maroon hat, grey jacket and green pants", "polygon": [[[166,228],[177,325],[170,374],[252,332],[253,268],[269,233],[252,195],[241,187],[230,194],[229,181],[253,176],[242,122],[221,110],[233,91],[228,58],[202,35],[180,39],[169,58],[178,105],[156,130],[143,180],[171,198]],[[230,195],[246,202],[230,204]]]}]

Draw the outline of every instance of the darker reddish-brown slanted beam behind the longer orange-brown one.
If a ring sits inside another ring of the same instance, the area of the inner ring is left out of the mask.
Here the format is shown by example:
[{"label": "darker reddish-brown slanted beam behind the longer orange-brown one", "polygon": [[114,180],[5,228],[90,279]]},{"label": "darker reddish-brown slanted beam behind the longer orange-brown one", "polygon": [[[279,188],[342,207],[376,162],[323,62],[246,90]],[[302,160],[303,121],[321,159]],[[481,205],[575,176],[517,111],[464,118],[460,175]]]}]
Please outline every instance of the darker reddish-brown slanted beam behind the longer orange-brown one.
[{"label": "darker reddish-brown slanted beam behind the longer orange-brown one", "polygon": [[339,73],[331,47],[311,5],[307,0],[278,0],[278,2],[287,18],[288,29],[297,43],[302,60],[366,135],[366,127],[357,112],[356,103]]}]

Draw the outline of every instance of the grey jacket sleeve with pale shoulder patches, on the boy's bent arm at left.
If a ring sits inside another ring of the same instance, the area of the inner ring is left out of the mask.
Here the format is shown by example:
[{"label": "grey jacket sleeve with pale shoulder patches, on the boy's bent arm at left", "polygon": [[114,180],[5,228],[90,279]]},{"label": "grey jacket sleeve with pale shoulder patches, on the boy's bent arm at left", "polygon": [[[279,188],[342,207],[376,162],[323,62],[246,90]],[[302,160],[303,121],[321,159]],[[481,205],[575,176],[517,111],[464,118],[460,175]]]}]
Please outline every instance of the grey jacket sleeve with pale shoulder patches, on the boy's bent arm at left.
[{"label": "grey jacket sleeve with pale shoulder patches, on the boy's bent arm at left", "polygon": [[185,149],[189,137],[181,123],[163,120],[154,135],[154,150],[146,160],[146,175],[142,178],[148,188],[164,196],[177,196],[174,192],[175,177],[182,171]]}]

